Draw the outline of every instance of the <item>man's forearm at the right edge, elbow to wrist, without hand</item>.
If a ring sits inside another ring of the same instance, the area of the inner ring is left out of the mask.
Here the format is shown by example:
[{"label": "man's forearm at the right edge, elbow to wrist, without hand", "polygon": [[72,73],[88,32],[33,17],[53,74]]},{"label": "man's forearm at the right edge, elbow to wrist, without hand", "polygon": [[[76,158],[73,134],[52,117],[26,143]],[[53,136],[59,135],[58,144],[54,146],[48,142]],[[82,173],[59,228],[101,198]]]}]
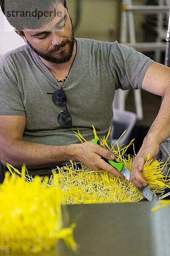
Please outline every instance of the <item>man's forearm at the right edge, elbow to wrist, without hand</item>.
[{"label": "man's forearm at the right edge, elbow to wrist, without hand", "polygon": [[164,99],[159,113],[150,127],[145,139],[154,140],[160,144],[170,137],[170,86],[164,92]]}]

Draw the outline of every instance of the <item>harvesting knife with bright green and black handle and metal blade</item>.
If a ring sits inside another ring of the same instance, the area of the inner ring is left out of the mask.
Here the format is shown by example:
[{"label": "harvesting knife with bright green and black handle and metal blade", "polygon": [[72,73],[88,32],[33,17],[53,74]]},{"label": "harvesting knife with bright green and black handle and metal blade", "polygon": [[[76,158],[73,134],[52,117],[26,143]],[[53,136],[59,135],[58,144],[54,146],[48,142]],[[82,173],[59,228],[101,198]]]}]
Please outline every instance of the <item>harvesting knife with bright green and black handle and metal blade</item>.
[{"label": "harvesting knife with bright green and black handle and metal blade", "polygon": [[[91,141],[100,145],[99,139],[93,139]],[[114,169],[121,172],[122,175],[124,175],[128,181],[130,180],[130,171],[125,167],[124,162],[117,162],[116,160],[108,160],[104,157],[102,157],[102,159],[105,160],[106,163],[113,166]],[[159,201],[159,198],[152,191],[150,191],[150,189],[148,189],[147,187],[137,188],[137,189],[142,193],[142,195],[144,195],[145,198],[147,198],[147,200]]]}]

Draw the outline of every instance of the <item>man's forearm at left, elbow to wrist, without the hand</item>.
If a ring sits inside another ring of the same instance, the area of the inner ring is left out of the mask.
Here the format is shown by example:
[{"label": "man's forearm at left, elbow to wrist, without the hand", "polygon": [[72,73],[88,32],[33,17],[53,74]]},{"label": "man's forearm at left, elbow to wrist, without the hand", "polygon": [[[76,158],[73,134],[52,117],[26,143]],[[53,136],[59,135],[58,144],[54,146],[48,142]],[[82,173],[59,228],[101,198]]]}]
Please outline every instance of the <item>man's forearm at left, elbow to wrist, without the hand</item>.
[{"label": "man's forearm at left, elbow to wrist, without the hand", "polygon": [[72,159],[76,145],[78,144],[57,146],[23,140],[8,141],[2,147],[1,161],[3,165],[10,163],[16,168],[21,167],[23,163],[28,169],[54,166]]}]

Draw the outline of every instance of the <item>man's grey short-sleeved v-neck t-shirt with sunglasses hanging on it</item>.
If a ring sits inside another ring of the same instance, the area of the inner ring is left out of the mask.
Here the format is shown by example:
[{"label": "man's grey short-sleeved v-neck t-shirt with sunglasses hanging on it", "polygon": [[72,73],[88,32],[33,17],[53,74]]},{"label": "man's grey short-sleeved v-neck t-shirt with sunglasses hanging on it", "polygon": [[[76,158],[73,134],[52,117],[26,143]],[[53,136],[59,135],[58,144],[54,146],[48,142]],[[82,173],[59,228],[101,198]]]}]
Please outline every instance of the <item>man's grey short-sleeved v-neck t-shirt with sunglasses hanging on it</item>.
[{"label": "man's grey short-sleeved v-neck t-shirt with sunglasses hanging on it", "polygon": [[[92,39],[76,38],[77,53],[63,89],[72,128],[63,128],[52,95],[60,85],[39,56],[24,45],[0,58],[0,115],[26,116],[23,140],[45,145],[79,143],[73,133],[86,140],[100,138],[112,124],[112,103],[118,88],[138,89],[153,62],[133,48]],[[108,142],[111,142],[109,138]]]}]

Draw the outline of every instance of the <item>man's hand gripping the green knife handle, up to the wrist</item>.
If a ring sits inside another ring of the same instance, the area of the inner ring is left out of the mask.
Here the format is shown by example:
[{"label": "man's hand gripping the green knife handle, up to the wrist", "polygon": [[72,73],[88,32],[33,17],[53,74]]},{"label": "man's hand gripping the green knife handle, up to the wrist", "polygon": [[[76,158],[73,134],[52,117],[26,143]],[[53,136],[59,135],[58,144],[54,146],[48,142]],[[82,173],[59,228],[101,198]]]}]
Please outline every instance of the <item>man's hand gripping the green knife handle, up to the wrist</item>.
[{"label": "man's hand gripping the green knife handle, up to the wrist", "polygon": [[108,160],[114,160],[116,159],[116,154],[111,150],[102,148],[94,142],[87,141],[82,144],[76,144],[76,154],[74,155],[73,160],[80,161],[94,171],[105,170],[116,177],[119,176],[121,179],[125,180],[125,176],[114,169],[113,166],[106,163],[102,157],[105,157]]}]

